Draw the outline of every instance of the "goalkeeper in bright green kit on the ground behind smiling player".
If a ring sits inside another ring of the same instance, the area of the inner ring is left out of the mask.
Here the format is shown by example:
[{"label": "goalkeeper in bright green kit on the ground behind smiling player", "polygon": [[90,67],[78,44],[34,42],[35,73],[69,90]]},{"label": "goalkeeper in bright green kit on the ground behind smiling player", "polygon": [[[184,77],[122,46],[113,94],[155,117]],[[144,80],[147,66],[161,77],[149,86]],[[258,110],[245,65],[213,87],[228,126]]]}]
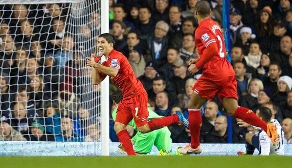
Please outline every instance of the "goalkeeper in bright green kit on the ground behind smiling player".
[{"label": "goalkeeper in bright green kit on the ground behind smiling player", "polygon": [[[113,100],[114,104],[118,104],[122,100],[122,92],[117,90],[114,93],[111,94],[111,99]],[[116,107],[112,111],[112,118],[115,120],[116,114],[117,114],[117,108]],[[150,108],[148,108],[149,116],[148,120],[151,120],[152,118],[160,118],[163,116],[158,115],[156,112],[152,111]],[[129,124],[132,126],[136,131],[136,125],[134,120],[132,119]],[[148,133],[141,133],[137,131],[137,133],[132,137],[131,139],[132,144],[134,145],[134,151],[136,154],[146,155],[147,153],[150,153],[152,150],[153,145],[159,150],[158,155],[175,155],[175,153],[171,153],[171,143],[172,140],[170,138],[170,131],[167,127],[154,130]],[[124,151],[123,147],[121,145],[118,146],[118,149],[121,153],[126,153]]]}]

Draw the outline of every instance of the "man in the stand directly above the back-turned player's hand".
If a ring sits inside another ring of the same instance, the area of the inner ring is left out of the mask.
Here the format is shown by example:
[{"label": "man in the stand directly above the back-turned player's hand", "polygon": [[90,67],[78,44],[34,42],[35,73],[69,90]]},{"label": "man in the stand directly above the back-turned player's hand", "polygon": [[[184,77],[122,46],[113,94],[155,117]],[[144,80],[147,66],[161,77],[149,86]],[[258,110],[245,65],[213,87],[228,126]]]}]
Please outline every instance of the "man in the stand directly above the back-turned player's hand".
[{"label": "man in the stand directly above the back-turned player's hand", "polygon": [[180,56],[185,62],[191,58],[199,57],[193,34],[186,33],[183,35],[183,46],[180,48]]}]

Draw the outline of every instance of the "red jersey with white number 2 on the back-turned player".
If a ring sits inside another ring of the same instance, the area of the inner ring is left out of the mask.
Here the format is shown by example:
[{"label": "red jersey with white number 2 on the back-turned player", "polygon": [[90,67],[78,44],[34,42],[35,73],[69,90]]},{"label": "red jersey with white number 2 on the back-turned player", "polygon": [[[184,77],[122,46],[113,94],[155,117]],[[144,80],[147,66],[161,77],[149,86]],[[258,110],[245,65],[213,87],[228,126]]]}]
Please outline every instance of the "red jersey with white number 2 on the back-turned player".
[{"label": "red jersey with white number 2 on the back-turned player", "polygon": [[217,44],[218,52],[209,62],[203,65],[202,74],[209,78],[235,75],[232,65],[225,56],[226,48],[221,28],[214,20],[208,18],[202,20],[195,31],[195,44],[200,56],[211,43]]}]

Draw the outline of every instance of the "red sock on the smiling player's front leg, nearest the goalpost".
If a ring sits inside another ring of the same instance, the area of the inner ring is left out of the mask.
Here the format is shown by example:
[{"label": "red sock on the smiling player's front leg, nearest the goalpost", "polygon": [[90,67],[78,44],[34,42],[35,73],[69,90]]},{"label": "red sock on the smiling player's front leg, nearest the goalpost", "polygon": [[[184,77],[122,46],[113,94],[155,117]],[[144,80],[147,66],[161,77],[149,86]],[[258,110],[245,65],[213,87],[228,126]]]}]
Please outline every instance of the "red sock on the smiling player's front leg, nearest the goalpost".
[{"label": "red sock on the smiling player's front leg, nearest the goalpost", "polygon": [[136,155],[128,131],[127,130],[120,131],[117,133],[117,136],[127,154]]}]

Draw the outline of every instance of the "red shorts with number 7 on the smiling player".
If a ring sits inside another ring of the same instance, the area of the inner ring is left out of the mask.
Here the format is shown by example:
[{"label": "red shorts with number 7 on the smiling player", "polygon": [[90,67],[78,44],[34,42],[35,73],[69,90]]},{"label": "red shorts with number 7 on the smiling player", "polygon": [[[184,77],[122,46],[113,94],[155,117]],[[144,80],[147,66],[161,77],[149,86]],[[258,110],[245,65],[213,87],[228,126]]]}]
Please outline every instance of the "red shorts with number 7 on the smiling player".
[{"label": "red shorts with number 7 on the smiling player", "polygon": [[142,93],[126,100],[123,99],[119,103],[115,121],[128,125],[134,118],[137,127],[146,125],[149,116],[147,102],[147,93]]}]

